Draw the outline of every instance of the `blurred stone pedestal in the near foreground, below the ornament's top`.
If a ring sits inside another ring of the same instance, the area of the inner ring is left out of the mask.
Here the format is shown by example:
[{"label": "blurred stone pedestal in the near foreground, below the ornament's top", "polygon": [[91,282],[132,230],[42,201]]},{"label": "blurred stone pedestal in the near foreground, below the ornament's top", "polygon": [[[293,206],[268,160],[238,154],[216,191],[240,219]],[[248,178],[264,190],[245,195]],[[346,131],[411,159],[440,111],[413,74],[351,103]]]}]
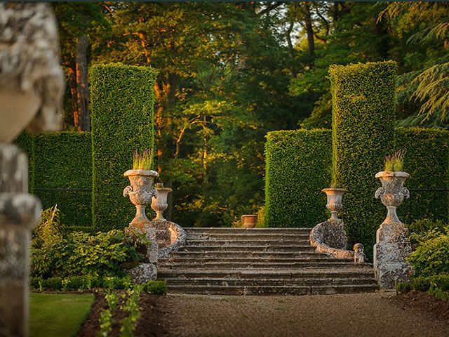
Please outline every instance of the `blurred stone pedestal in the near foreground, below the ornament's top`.
[{"label": "blurred stone pedestal in the near foreground, below the ornament's top", "polygon": [[27,194],[27,157],[0,143],[0,336],[27,336],[29,246],[39,199]]}]

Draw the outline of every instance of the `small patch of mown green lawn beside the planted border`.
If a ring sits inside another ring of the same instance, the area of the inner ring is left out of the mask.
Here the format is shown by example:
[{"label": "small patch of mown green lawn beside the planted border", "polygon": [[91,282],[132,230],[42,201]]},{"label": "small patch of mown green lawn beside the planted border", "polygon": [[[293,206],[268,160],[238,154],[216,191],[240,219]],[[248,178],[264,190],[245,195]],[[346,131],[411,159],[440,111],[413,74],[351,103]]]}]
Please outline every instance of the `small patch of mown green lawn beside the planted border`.
[{"label": "small patch of mown green lawn beside the planted border", "polygon": [[31,293],[30,337],[76,336],[93,304],[93,293]]}]

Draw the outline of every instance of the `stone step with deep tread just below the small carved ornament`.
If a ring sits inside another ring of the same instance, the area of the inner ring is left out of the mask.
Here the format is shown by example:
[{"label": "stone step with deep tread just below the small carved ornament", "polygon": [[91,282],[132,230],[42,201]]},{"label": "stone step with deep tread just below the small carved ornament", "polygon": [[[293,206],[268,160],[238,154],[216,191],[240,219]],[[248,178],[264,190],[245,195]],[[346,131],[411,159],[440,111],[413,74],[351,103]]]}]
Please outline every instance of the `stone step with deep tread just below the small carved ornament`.
[{"label": "stone step with deep tread just below the small carved ornament", "polygon": [[161,267],[158,270],[159,279],[179,278],[179,279],[309,279],[322,278],[354,278],[354,277],[374,277],[372,267],[365,265],[358,268],[308,268],[301,270],[208,270],[208,269],[175,269],[169,270]]}]

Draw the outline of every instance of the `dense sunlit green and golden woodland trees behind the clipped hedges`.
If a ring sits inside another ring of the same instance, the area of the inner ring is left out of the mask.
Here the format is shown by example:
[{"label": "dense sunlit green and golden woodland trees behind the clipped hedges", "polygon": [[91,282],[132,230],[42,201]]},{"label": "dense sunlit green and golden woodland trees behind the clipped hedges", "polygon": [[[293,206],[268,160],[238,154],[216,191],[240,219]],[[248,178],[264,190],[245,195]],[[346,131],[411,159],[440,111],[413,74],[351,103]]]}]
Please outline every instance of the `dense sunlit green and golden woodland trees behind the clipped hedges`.
[{"label": "dense sunlit green and golden woodland trees behind the clipped hedges", "polygon": [[263,206],[264,135],[330,128],[329,65],[396,60],[397,123],[448,125],[448,4],[99,2],[54,8],[69,84],[67,129],[86,128],[77,125],[83,115],[80,51],[89,65],[112,61],[159,70],[156,164],[174,190],[173,219],[185,226],[230,225]]}]

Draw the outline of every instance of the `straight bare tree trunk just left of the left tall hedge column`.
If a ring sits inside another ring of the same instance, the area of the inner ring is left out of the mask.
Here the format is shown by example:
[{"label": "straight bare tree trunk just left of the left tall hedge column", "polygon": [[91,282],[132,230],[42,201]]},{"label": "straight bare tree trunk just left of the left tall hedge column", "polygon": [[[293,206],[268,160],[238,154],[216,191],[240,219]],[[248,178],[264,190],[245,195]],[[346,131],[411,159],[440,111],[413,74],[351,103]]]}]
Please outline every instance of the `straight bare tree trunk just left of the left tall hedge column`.
[{"label": "straight bare tree trunk just left of the left tall hedge column", "polygon": [[87,82],[87,51],[89,41],[86,35],[78,38],[76,46],[76,102],[78,103],[78,119],[81,131],[91,131],[88,99],[89,88]]}]

